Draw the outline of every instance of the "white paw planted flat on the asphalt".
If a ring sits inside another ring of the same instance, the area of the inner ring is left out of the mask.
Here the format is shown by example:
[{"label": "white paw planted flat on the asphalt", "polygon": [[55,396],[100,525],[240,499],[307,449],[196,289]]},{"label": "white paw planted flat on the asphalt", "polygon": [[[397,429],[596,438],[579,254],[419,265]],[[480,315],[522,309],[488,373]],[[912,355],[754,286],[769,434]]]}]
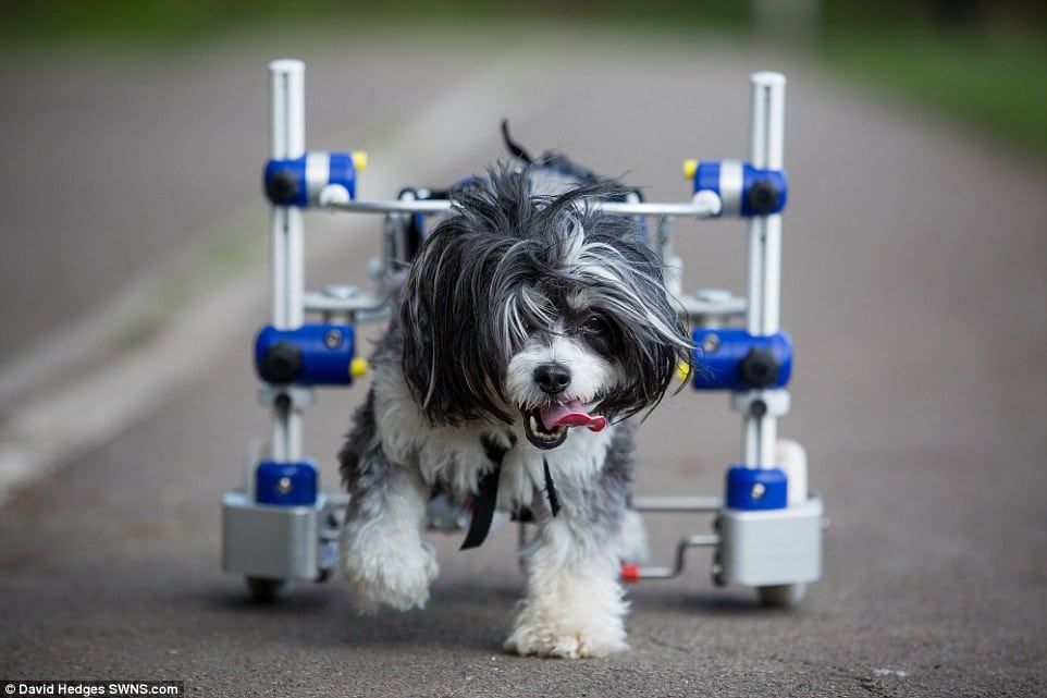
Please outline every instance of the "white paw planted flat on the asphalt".
[{"label": "white paw planted flat on the asphalt", "polygon": [[580,659],[606,657],[629,649],[620,617],[594,619],[538,617],[525,609],[505,649],[517,654]]}]

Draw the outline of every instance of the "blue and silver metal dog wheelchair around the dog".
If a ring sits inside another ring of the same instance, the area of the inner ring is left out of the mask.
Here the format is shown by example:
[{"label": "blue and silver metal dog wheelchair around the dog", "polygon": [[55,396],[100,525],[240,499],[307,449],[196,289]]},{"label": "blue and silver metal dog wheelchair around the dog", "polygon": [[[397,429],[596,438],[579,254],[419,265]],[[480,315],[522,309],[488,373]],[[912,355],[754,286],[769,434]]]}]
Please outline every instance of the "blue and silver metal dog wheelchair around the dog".
[{"label": "blue and silver metal dog wheelchair around the dog", "polygon": [[[358,199],[366,154],[305,149],[305,64],[278,60],[269,73],[272,154],[263,183],[272,204],[273,311],[272,322],[257,335],[255,367],[263,382],[259,401],[272,413],[272,436],[268,456],[252,458],[244,486],[222,498],[223,570],[244,576],[258,600],[283,595],[293,580],[324,580],[336,568],[347,495],[319,487],[316,465],[303,455],[303,414],[317,387],[350,385],[367,374],[367,360],[356,354],[356,323],[387,316],[385,272],[409,264],[424,240],[427,219],[451,208],[445,196],[428,189],[404,189],[391,200]],[[731,409],[742,420],[741,461],[728,468],[722,499],[632,498],[632,510],[641,514],[705,513],[714,523],[711,532],[680,539],[672,566],[624,563],[625,583],[679,576],[691,548],[712,549],[715,585],[755,588],[768,605],[799,602],[805,585],[821,577],[822,501],[808,491],[803,449],[777,439],[777,419],[789,409],[786,385],[792,370],[792,342],[778,323],[781,212],[788,195],[781,162],[785,84],[777,73],[751,76],[750,160],[685,162],[690,200],[645,203],[631,195],[594,204],[655,223],[652,244],[662,253],[666,285],[681,302],[694,346],[695,369],[681,370],[680,378],[695,390],[729,392]],[[306,209],[384,217],[382,256],[371,262],[373,291],[305,290]],[[674,218],[747,221],[746,297],[720,290],[681,292]],[[428,524],[463,530],[469,512],[435,498]]]}]

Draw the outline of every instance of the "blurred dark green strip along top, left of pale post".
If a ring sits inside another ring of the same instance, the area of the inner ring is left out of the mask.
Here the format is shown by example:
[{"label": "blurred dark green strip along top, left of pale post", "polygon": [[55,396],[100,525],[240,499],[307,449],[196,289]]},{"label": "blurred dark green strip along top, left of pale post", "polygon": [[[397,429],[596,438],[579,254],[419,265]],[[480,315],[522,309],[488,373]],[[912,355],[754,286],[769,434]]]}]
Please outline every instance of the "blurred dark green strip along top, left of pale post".
[{"label": "blurred dark green strip along top, left of pale post", "polygon": [[743,28],[752,10],[734,0],[0,0],[0,37],[168,46],[264,28],[352,28],[360,24],[491,26],[494,23],[669,24]]}]

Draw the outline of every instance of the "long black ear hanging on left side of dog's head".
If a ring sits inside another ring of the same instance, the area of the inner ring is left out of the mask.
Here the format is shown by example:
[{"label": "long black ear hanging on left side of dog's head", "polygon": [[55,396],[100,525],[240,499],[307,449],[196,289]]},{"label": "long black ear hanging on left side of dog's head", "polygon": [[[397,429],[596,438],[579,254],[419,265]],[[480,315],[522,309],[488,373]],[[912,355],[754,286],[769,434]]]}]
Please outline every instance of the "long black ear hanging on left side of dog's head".
[{"label": "long black ear hanging on left side of dog's head", "polygon": [[433,425],[513,420],[502,388],[505,347],[491,320],[491,267],[500,252],[470,232],[459,217],[442,221],[404,284],[403,372]]}]

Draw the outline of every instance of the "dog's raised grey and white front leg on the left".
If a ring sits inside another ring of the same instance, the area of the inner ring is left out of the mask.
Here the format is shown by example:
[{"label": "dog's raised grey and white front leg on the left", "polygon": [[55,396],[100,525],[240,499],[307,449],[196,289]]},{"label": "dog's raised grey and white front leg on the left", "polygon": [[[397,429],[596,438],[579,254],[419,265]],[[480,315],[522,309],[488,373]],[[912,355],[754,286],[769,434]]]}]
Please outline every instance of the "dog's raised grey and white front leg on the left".
[{"label": "dog's raised grey and white front leg on the left", "polygon": [[356,415],[340,455],[349,491],[341,536],[341,571],[356,607],[424,607],[438,573],[421,526],[429,490],[417,469],[390,463],[374,430],[373,395]]}]

